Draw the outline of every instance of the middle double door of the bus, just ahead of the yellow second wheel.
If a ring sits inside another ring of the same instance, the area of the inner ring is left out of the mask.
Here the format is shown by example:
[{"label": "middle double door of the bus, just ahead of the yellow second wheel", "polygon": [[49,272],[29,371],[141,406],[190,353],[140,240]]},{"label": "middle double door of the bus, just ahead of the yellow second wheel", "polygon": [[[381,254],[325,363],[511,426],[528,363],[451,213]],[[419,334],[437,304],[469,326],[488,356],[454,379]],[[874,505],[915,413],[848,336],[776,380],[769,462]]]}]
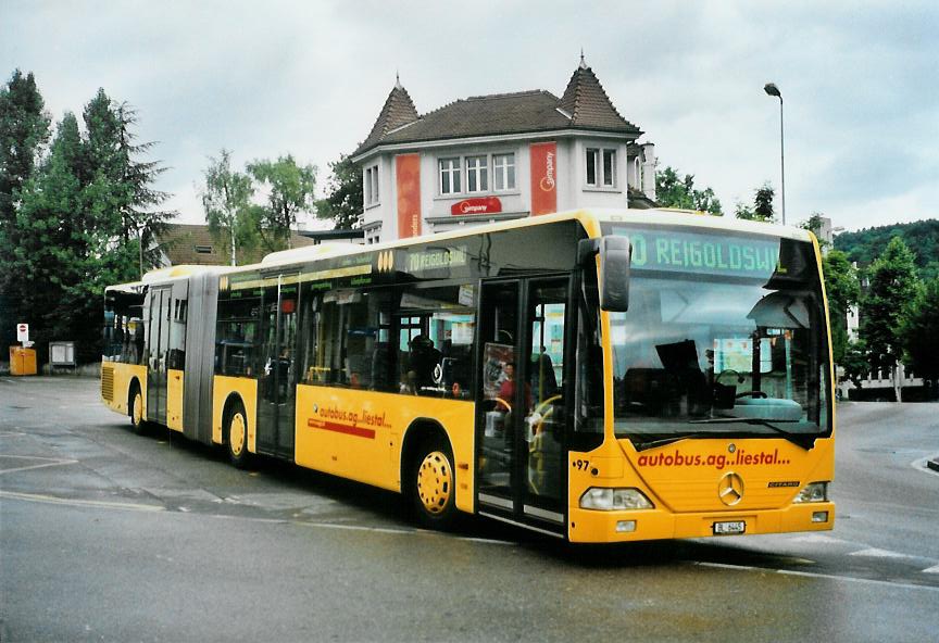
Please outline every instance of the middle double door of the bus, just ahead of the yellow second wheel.
[{"label": "middle double door of the bus, just ahead of the yellow second wheel", "polygon": [[299,293],[297,274],[279,275],[264,287],[258,378],[258,451],[263,453],[293,455]]}]

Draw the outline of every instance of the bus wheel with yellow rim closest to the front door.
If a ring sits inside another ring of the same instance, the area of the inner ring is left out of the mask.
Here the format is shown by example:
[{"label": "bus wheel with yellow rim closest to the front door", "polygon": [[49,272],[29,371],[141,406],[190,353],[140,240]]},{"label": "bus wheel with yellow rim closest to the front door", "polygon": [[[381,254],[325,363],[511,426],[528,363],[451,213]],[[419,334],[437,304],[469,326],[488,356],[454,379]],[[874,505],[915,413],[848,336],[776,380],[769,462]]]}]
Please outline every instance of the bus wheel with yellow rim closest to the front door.
[{"label": "bus wheel with yellow rim closest to the front door", "polygon": [[456,518],[456,483],[453,454],[439,437],[417,450],[410,477],[412,506],[417,521],[427,528],[447,530]]}]

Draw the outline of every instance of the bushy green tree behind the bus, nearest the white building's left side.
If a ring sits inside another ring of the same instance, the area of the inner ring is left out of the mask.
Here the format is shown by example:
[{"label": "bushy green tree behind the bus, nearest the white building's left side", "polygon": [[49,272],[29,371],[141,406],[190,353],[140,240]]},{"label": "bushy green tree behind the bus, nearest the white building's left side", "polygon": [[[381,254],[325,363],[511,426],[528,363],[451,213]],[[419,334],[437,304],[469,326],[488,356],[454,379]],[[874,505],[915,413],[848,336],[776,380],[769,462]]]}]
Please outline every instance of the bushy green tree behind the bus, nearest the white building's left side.
[{"label": "bushy green tree behind the bus, nearest the white building's left side", "polygon": [[290,245],[290,230],[297,227],[301,213],[314,212],[313,192],[316,189],[316,166],[298,166],[287,154],[277,161],[254,161],[248,173],[267,188],[267,205],[254,213],[260,215],[258,231],[267,251]]}]

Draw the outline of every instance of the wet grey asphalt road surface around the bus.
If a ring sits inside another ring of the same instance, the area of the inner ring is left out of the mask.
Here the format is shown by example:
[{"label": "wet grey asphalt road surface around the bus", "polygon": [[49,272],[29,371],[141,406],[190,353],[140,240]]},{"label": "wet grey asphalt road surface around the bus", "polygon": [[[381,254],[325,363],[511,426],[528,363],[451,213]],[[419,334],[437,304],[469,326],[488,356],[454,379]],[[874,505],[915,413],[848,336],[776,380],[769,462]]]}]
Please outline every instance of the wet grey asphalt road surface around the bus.
[{"label": "wet grey asphalt road surface around the bus", "polygon": [[0,641],[935,641],[937,412],[839,405],[832,532],[565,547],[0,378]]}]

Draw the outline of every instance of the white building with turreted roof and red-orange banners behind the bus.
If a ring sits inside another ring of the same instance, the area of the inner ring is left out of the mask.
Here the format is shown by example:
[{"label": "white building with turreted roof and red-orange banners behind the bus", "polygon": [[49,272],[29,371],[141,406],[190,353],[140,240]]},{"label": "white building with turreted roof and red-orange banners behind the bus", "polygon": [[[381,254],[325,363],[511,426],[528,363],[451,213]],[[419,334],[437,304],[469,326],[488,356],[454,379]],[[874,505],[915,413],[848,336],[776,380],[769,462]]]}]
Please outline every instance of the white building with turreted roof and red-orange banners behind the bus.
[{"label": "white building with turreted roof and red-orange banners behind the bus", "polygon": [[523,91],[458,100],[423,116],[391,90],[353,154],[366,242],[655,198],[655,151],[581,60],[562,98]]}]

